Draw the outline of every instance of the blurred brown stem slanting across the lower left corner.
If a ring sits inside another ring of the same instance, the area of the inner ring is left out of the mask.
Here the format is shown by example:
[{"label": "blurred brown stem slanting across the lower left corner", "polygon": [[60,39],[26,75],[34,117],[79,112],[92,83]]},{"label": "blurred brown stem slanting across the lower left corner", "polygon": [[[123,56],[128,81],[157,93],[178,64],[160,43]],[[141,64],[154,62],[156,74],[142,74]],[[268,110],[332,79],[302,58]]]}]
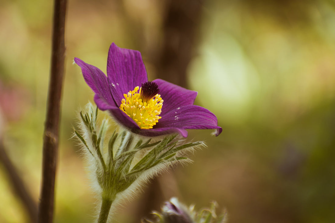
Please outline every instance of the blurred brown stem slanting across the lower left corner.
[{"label": "blurred brown stem slanting across the lower left corner", "polygon": [[3,167],[6,169],[8,179],[11,181],[13,186],[13,191],[22,201],[25,210],[28,212],[31,222],[37,222],[37,203],[32,199],[28,190],[25,187],[25,184],[22,178],[19,176],[17,169],[9,159],[3,142],[0,139],[0,162],[3,164]]}]

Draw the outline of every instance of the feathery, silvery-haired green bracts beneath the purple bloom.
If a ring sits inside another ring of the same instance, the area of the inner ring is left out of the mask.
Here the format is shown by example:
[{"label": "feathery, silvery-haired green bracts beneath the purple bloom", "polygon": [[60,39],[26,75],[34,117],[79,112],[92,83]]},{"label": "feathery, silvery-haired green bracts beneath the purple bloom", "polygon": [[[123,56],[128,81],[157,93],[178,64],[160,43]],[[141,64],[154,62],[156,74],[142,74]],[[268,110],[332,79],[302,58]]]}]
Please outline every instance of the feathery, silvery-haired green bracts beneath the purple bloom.
[{"label": "feathery, silvery-haired green bracts beneath the purple bloom", "polygon": [[190,161],[185,153],[203,145],[203,142],[185,143],[177,134],[146,138],[129,131],[114,131],[110,135],[109,120],[99,121],[97,117],[97,109],[89,103],[80,112],[79,131],[75,131],[75,136],[87,151],[87,160],[91,160],[95,170],[93,178],[105,198],[115,199],[131,185],[140,187],[172,164]]}]

